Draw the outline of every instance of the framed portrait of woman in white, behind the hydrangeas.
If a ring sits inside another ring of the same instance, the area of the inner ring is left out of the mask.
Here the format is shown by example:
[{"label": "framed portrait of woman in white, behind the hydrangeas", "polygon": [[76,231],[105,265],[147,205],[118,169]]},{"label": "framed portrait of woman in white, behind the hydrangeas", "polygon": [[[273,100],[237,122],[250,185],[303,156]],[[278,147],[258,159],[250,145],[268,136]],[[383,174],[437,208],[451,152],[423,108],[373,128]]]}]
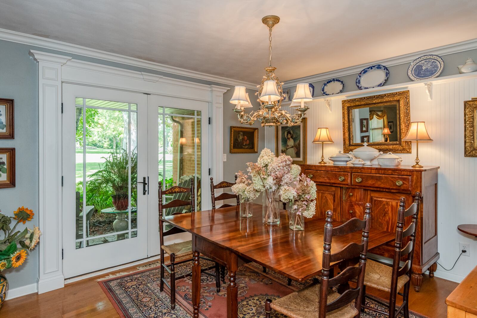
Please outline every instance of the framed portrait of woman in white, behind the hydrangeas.
[{"label": "framed portrait of woman in white, behind the hydrangeas", "polygon": [[306,118],[296,126],[277,126],[275,141],[277,155],[287,154],[294,164],[306,164]]}]

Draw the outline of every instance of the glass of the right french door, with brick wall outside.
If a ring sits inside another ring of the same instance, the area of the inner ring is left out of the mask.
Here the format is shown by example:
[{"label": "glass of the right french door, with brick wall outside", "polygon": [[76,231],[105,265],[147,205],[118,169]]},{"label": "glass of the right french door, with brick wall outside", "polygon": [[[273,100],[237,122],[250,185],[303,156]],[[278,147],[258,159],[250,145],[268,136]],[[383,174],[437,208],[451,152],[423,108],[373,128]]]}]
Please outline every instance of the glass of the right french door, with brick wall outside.
[{"label": "glass of the right french door, with brick wall outside", "polygon": [[[188,188],[193,179],[196,211],[200,211],[200,112],[170,107],[159,107],[158,112],[159,180],[163,189],[167,189],[174,185]],[[179,196],[182,200],[190,200],[190,195],[184,197],[177,194],[166,195],[163,202],[170,202]],[[190,207],[170,208],[164,214],[187,210]]]}]

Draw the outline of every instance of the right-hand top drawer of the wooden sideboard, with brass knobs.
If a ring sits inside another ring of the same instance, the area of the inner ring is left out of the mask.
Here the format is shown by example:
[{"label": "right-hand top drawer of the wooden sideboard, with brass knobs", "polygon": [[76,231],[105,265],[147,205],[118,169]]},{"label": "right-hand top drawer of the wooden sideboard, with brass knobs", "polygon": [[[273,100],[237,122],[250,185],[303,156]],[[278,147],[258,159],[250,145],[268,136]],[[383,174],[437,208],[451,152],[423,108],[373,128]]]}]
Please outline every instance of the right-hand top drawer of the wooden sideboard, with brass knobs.
[{"label": "right-hand top drawer of the wooden sideboard, with brass knobs", "polygon": [[411,190],[410,175],[394,175],[394,174],[360,174],[353,173],[352,185],[360,185],[365,187]]}]

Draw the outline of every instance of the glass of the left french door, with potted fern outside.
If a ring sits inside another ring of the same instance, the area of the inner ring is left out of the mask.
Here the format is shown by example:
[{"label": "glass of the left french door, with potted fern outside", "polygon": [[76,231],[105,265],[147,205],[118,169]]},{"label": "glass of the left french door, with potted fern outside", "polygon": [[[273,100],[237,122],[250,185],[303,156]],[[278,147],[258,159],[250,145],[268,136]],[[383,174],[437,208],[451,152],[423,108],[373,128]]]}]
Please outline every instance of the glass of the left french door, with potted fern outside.
[{"label": "glass of the left french door, with potted fern outside", "polygon": [[76,248],[128,238],[137,227],[136,109],[76,98]]}]

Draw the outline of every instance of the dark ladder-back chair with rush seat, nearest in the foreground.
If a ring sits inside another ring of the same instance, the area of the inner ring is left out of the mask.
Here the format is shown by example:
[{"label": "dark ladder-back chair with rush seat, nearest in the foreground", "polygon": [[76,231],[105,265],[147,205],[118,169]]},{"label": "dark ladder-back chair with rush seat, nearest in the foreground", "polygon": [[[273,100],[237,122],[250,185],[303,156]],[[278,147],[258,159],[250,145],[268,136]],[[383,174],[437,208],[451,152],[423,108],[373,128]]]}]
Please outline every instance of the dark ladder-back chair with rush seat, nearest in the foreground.
[{"label": "dark ladder-back chair with rush seat, nearest in the foreground", "polygon": [[[367,203],[364,219],[352,218],[341,226],[333,228],[333,212],[326,211],[326,221],[323,237],[323,259],[321,282],[315,282],[285,297],[265,301],[265,317],[270,318],[271,308],[290,318],[353,318],[359,316],[363,294],[363,281],[366,269],[366,254],[368,252],[368,236],[371,225],[371,204]],[[340,251],[332,253],[333,236],[342,236],[354,232],[362,232],[361,243],[352,242]],[[352,262],[359,257],[357,266],[348,266],[340,274],[330,278],[331,263]],[[346,285],[357,278],[356,288],[350,288],[342,294],[333,290],[338,285]]]}]

